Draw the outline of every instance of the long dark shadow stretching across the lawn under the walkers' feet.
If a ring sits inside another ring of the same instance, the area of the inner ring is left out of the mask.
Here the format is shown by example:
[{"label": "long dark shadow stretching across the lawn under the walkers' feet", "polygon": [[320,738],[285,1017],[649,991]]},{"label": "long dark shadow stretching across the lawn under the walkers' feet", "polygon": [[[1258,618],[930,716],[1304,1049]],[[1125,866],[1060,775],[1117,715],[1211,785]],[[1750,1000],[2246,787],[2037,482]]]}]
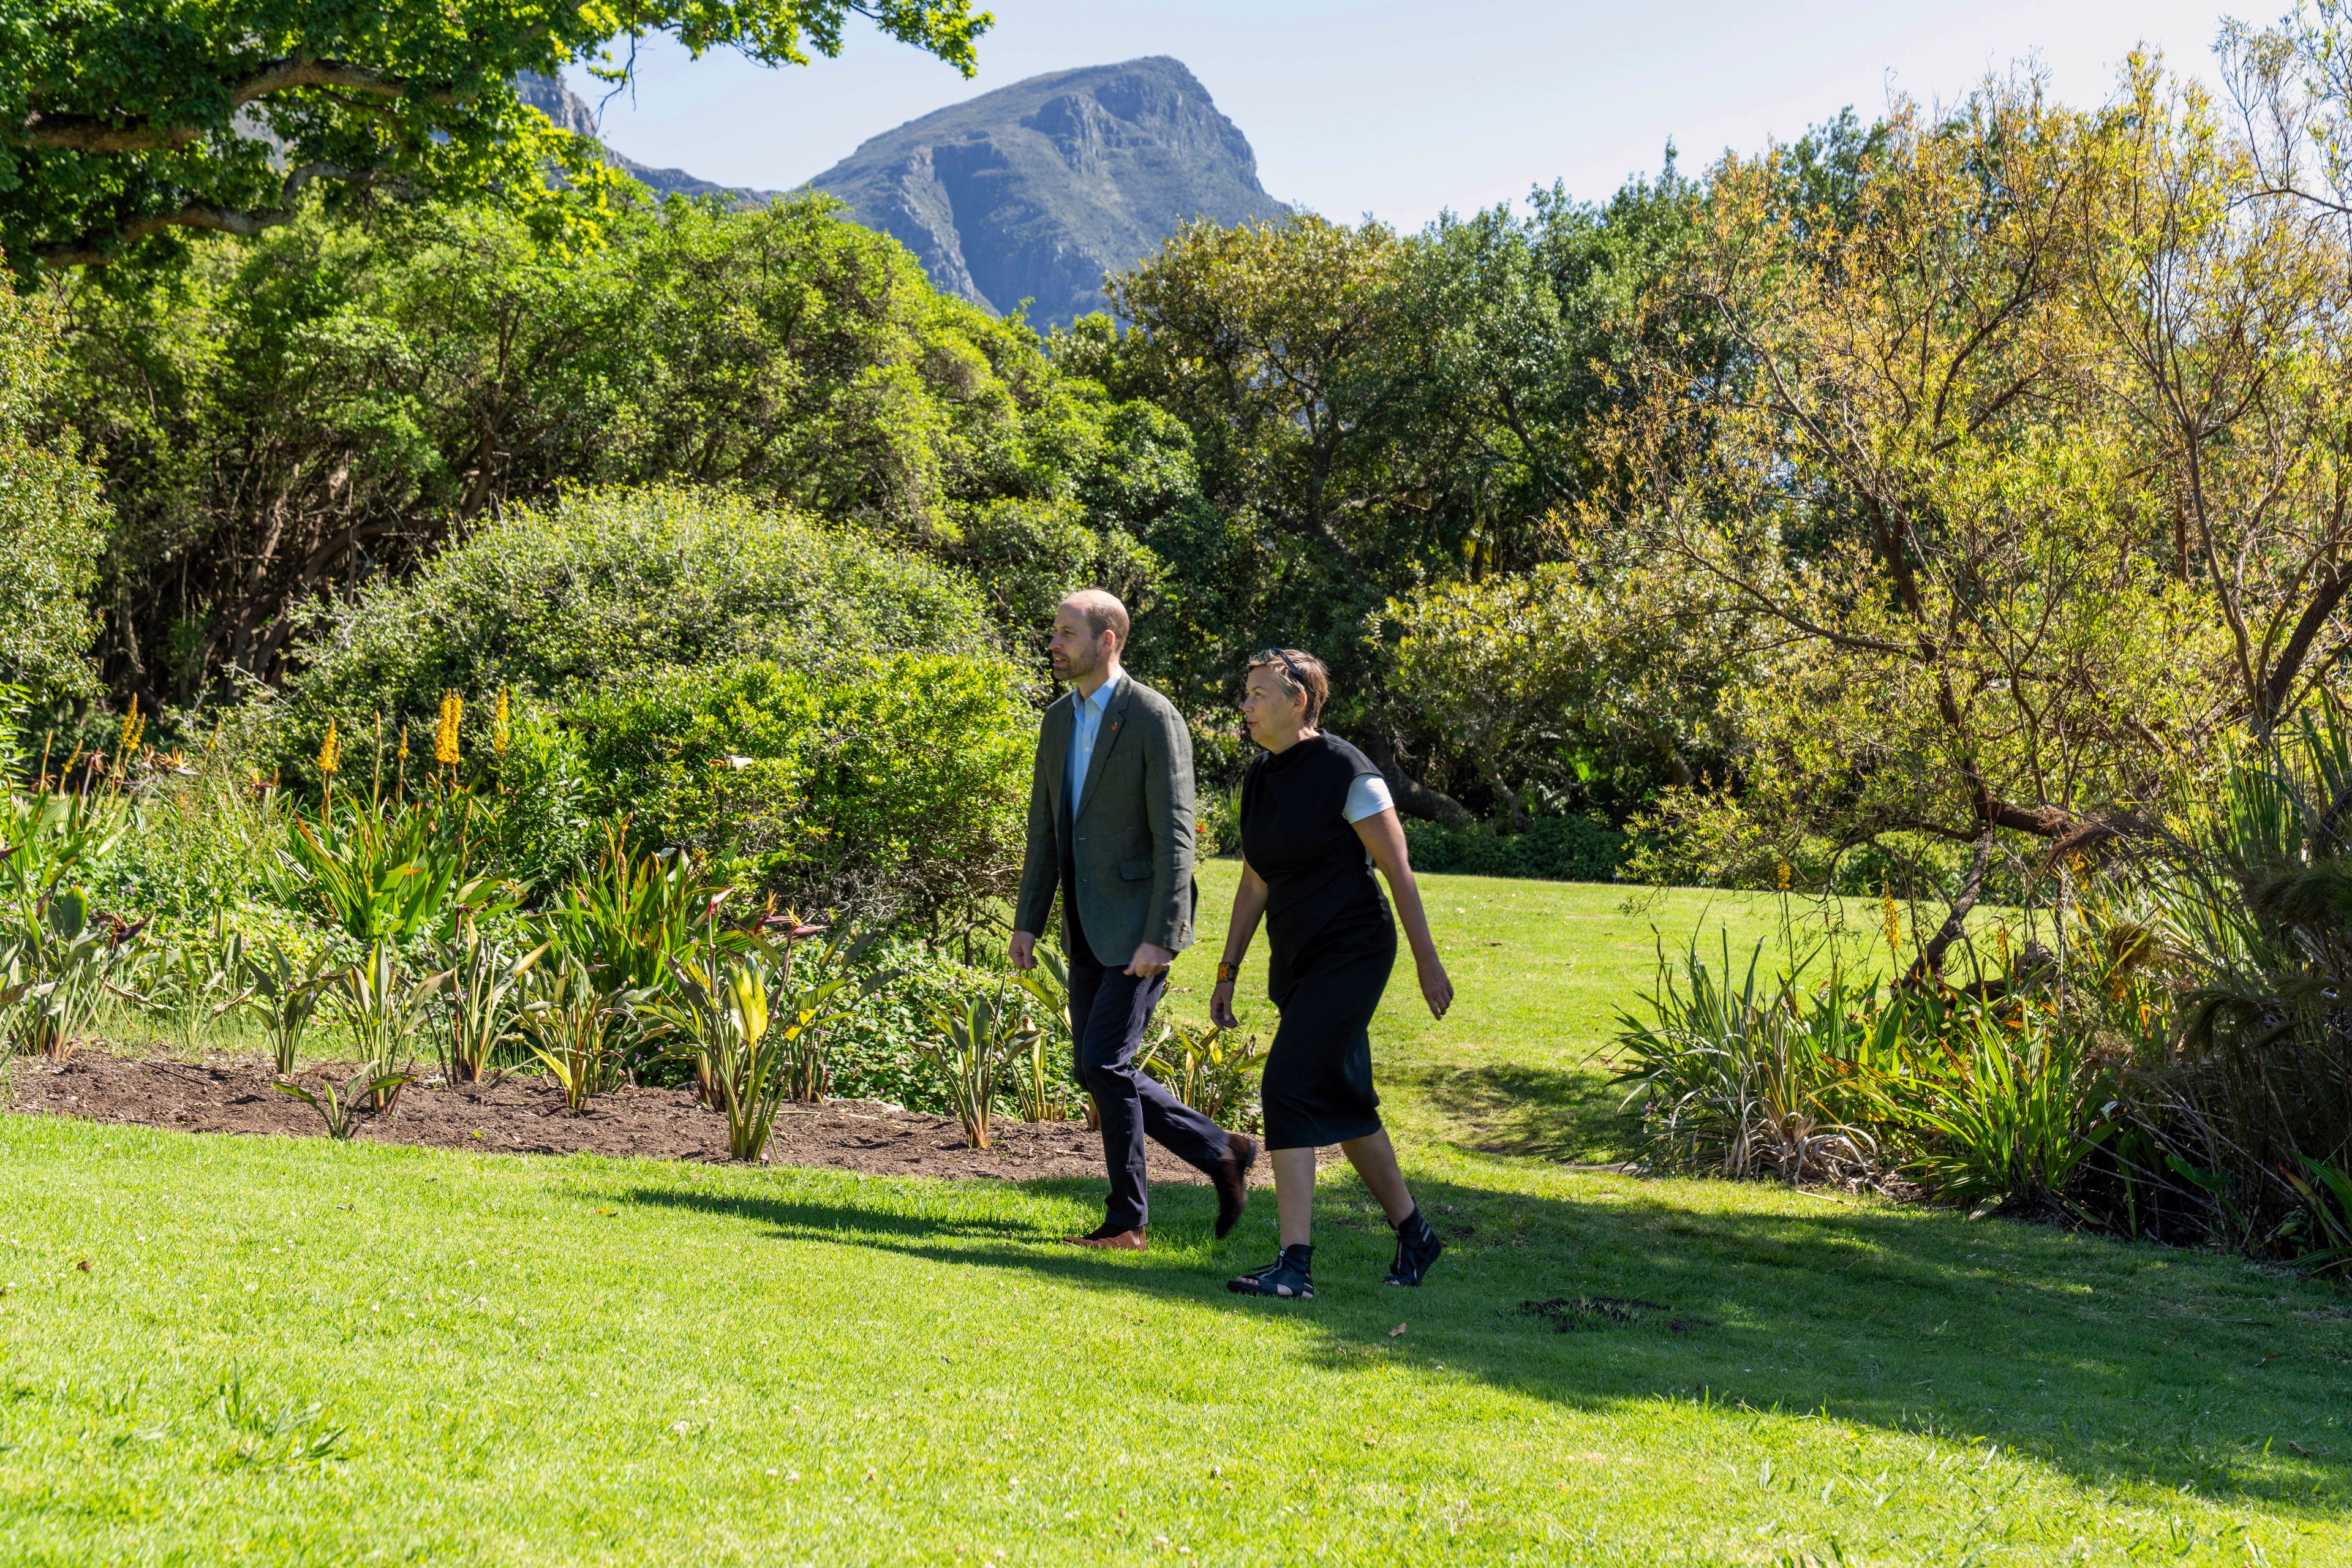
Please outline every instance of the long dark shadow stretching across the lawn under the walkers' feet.
[{"label": "long dark shadow stretching across the lawn under the walkers' feet", "polygon": [[[1091,1206],[1103,1185],[1018,1190]],[[1272,1204],[1256,1204],[1230,1244],[1211,1244],[1214,1199],[1202,1187],[1152,1192],[1162,1248],[1141,1255],[1054,1246],[1056,1232],[1037,1227],[842,1201],[666,1187],[621,1197],[734,1215],[786,1241],[1305,1316],[1319,1331],[1308,1354],[1331,1368],[1402,1356],[1437,1378],[1472,1375],[1583,1408],[1820,1413],[1999,1443],[2089,1483],[2194,1486],[2281,1512],[2338,1516],[2352,1497],[2343,1298],[2249,1284],[2220,1258],[2004,1220],[1828,1201],[1820,1215],[1717,1213],[1630,1180],[1616,1190],[1609,1201],[1564,1201],[1421,1180],[1421,1206],[1451,1251],[1421,1291],[1404,1293],[1378,1286],[1392,1246],[1378,1211],[1352,1178],[1327,1178],[1319,1295],[1296,1305],[1225,1291],[1228,1274],[1272,1253]],[[1630,1305],[1529,1312],[1578,1298]],[[1399,1316],[1409,1340],[1388,1333]]]}]

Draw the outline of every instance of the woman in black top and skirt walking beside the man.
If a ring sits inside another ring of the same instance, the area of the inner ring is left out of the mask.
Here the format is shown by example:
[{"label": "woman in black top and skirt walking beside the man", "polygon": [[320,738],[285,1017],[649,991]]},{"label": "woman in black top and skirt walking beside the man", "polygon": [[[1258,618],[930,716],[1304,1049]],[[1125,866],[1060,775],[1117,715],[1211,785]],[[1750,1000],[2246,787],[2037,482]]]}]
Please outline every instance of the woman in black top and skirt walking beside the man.
[{"label": "woman in black top and skirt walking beside the man", "polygon": [[1331,677],[1312,654],[1268,649],[1249,661],[1242,717],[1265,755],[1242,778],[1242,886],[1232,893],[1225,959],[1209,997],[1209,1018],[1235,1027],[1235,973],[1263,917],[1272,952],[1268,994],[1282,1009],[1263,1093],[1282,1253],[1230,1281],[1247,1295],[1315,1295],[1315,1150],[1327,1143],[1348,1154],[1397,1229],[1388,1284],[1418,1286],[1444,1251],[1414,1208],[1397,1150],[1381,1126],[1381,1095],[1371,1088],[1371,1013],[1397,961],[1397,922],[1374,867],[1397,898],[1421,994],[1435,1018],[1454,1004],[1454,983],[1437,961],[1381,769],[1315,729],[1329,693]]}]

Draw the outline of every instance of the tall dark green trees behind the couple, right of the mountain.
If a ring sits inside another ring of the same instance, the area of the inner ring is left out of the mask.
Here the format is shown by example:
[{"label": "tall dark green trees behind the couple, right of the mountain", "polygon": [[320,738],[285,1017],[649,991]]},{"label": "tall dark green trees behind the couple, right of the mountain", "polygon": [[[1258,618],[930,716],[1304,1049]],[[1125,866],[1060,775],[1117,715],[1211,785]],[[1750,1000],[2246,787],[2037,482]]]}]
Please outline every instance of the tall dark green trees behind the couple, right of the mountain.
[{"label": "tall dark green trees behind the couple, right of the mountain", "polygon": [[1411,237],[1319,219],[1188,228],[1115,280],[1134,329],[1080,322],[1056,355],[1190,435],[1197,494],[1131,524],[1164,562],[1141,632],[1183,651],[1164,679],[1211,708],[1249,646],[1319,654],[1338,731],[1430,785],[1406,792],[1421,816],[1458,816],[1449,795],[1505,818],[1529,802],[1623,811],[1686,766],[1693,738],[1649,715],[1588,722],[1557,689],[1531,696],[1545,705],[1531,724],[1522,703],[1519,741],[1489,745],[1461,717],[1508,705],[1486,703],[1501,658],[1423,658],[1430,679],[1399,682],[1395,630],[1378,628],[1423,585],[1482,583],[1566,545],[1602,477],[1595,430],[1621,395],[1595,367],[1644,331],[1686,336],[1635,320],[1632,301],[1698,200],[1670,169],[1604,207],[1552,190],[1524,216],[1496,209]]}]

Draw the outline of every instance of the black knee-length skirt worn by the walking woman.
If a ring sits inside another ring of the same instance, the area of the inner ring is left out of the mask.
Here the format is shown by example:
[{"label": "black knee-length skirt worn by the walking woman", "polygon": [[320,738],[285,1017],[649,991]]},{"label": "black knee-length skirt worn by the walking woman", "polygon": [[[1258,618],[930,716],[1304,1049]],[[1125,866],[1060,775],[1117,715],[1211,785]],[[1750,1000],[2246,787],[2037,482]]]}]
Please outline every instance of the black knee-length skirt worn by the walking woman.
[{"label": "black knee-length skirt worn by the walking woman", "polygon": [[1265,1053],[1261,1091],[1268,1150],[1308,1150],[1381,1131],[1371,1016],[1397,964],[1397,929],[1383,919],[1350,936],[1298,964],[1291,992],[1277,1001],[1282,1025]]}]

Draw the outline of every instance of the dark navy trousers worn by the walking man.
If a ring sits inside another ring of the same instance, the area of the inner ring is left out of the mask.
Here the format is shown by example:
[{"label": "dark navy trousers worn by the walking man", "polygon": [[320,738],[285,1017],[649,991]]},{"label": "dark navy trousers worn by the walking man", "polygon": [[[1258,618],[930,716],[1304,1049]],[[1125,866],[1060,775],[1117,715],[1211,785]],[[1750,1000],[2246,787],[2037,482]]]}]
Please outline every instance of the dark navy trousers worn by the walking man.
[{"label": "dark navy trousers worn by the walking man", "polygon": [[1070,1034],[1077,1039],[1077,1081],[1103,1114],[1103,1164],[1110,1166],[1105,1222],[1112,1229],[1136,1229],[1150,1218],[1145,1133],[1202,1171],[1225,1157],[1225,1128],[1136,1070],[1143,1025],[1167,987],[1164,973],[1141,980],[1127,973],[1124,959],[1101,964],[1077,926],[1077,900],[1070,900]]}]

